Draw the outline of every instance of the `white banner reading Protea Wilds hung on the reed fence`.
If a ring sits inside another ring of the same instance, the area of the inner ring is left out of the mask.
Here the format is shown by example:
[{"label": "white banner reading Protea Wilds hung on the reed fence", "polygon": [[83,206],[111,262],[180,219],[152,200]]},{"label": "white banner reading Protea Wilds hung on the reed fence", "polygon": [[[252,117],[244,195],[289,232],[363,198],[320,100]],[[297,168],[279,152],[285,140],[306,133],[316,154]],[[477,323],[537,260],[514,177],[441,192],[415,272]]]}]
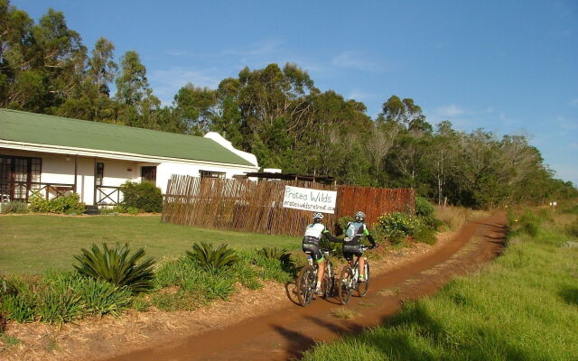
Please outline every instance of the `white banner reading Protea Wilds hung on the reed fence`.
[{"label": "white banner reading Protea Wilds hung on the reed fence", "polygon": [[334,190],[310,190],[285,186],[283,207],[332,214],[335,212],[336,200],[337,192]]}]

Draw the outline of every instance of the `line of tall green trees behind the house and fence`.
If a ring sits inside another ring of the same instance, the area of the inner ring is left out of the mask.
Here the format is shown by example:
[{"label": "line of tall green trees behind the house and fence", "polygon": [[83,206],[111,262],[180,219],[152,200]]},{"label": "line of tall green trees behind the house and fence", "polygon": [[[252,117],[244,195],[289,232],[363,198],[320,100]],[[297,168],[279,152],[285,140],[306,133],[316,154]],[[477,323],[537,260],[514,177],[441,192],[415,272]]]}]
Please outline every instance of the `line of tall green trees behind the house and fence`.
[{"label": "line of tall green trees behind the house and fence", "polygon": [[437,203],[491,208],[578,195],[524,135],[463,132],[449,120],[433,126],[413,99],[396,95],[373,119],[362,102],[316,88],[292,63],[246,67],[218,88],[188,83],[163,106],[136,51],[117,61],[105,38],[89,50],[61,12],[49,9],[36,23],[7,0],[0,107],[178,134],[215,131],[263,167],[412,187]]}]

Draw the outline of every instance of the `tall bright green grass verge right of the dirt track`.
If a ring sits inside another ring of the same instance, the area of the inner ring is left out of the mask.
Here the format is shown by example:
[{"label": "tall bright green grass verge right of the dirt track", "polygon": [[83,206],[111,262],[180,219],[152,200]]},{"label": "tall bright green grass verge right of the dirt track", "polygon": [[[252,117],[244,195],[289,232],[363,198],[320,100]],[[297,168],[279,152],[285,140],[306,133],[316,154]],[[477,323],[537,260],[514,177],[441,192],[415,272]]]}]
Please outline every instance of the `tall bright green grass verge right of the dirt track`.
[{"label": "tall bright green grass verge right of the dirt track", "polygon": [[578,359],[578,248],[561,246],[568,236],[556,221],[514,235],[480,272],[304,360]]}]

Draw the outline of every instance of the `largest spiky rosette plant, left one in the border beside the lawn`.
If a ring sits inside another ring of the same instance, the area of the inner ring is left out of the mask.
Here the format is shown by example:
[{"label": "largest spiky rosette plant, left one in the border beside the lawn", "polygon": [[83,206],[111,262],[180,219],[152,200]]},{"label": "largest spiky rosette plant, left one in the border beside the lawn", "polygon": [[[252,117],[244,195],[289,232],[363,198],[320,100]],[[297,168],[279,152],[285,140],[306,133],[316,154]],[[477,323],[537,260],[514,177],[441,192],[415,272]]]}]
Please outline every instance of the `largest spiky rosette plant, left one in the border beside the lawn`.
[{"label": "largest spiky rosette plant, left one in the border beside the lawn", "polygon": [[137,264],[144,256],[143,248],[129,255],[128,244],[108,248],[103,243],[102,250],[98,245],[92,245],[90,251],[85,248],[81,251],[82,255],[74,256],[79,261],[79,264],[74,265],[79,273],[106,280],[117,287],[126,286],[135,293],[153,288],[153,259],[148,258]]}]

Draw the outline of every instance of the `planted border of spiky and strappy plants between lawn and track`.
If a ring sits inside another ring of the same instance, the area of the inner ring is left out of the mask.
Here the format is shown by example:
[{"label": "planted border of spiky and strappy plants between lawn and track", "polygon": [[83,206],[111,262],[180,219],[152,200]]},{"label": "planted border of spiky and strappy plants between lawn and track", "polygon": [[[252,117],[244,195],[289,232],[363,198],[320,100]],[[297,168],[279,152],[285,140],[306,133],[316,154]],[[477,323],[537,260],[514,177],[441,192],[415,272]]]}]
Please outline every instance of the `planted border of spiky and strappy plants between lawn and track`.
[{"label": "planted border of spiky and strappy plants between lawn and track", "polygon": [[92,245],[75,256],[75,272],[0,278],[0,321],[64,323],[150,306],[194,310],[216,299],[228,300],[237,283],[255,290],[262,287],[260,280],[287,282],[294,277],[294,261],[276,248],[235,251],[200,243],[193,249],[153,270],[154,261],[140,261],[142,248],[131,254],[128,245]]}]

